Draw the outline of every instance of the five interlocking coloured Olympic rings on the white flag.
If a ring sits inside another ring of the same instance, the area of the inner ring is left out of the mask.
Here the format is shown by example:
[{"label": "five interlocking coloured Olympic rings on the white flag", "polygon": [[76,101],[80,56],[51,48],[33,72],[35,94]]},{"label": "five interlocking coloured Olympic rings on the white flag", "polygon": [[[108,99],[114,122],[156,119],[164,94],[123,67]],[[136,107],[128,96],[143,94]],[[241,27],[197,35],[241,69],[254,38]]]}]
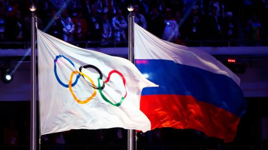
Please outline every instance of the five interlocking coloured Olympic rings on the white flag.
[{"label": "five interlocking coloured Olympic rings on the white flag", "polygon": [[[65,57],[65,56],[63,56],[63,55],[58,55],[58,56],[56,56],[56,58],[55,58],[55,60],[54,60],[54,73],[55,73],[56,79],[57,79],[57,81],[58,81],[58,83],[59,83],[60,85],[62,85],[63,87],[69,88],[69,90],[70,90],[71,94],[73,95],[74,99],[75,99],[79,104],[86,104],[86,103],[89,102],[91,99],[93,99],[93,98],[96,96],[96,90],[98,90],[98,92],[100,93],[101,97],[102,97],[106,102],[110,103],[110,104],[113,105],[113,106],[118,107],[118,106],[120,106],[120,105],[123,103],[123,101],[125,100],[125,98],[126,98],[126,96],[127,96],[126,79],[125,79],[124,75],[121,74],[119,71],[116,71],[116,70],[111,71],[111,72],[108,74],[107,79],[103,82],[102,86],[100,86],[100,80],[102,80],[102,77],[103,77],[101,71],[100,71],[96,66],[88,64],[88,65],[85,65],[85,66],[83,66],[83,67],[82,67],[82,66],[79,67],[79,72],[78,72],[78,71],[73,71],[72,74],[71,74],[70,80],[69,80],[69,84],[64,84],[64,83],[62,83],[62,81],[59,79],[59,77],[58,77],[58,75],[57,75],[57,64],[56,64],[56,62],[57,62],[57,59],[60,58],[60,57],[65,58],[67,61],[69,61],[69,62],[71,63],[72,66],[75,67],[74,63],[73,63],[69,58],[67,58],[67,57]],[[75,67],[75,68],[76,68],[76,67]],[[98,87],[96,87],[96,85],[94,84],[94,81],[93,81],[89,76],[87,76],[87,75],[85,75],[84,73],[82,73],[82,68],[93,68],[93,69],[95,69],[95,70],[98,72],[98,74],[99,74],[99,77],[97,78],[97,80],[98,80]],[[121,97],[121,100],[120,100],[118,103],[113,103],[113,102],[111,102],[111,101],[110,101],[108,98],[106,98],[106,97],[104,96],[104,94],[102,93],[102,90],[105,88],[105,84],[106,84],[107,82],[109,82],[109,80],[110,80],[110,78],[111,78],[111,75],[114,74],[114,73],[115,73],[115,74],[118,74],[118,75],[122,78],[122,80],[123,80],[123,84],[124,84],[124,88],[125,88],[125,91],[126,91],[126,94],[125,94],[124,96]],[[78,75],[77,75],[77,78],[76,78],[75,82],[73,83],[73,76],[74,76],[75,74],[78,74]],[[74,94],[73,89],[72,89],[72,87],[75,86],[75,85],[77,84],[77,82],[78,82],[78,78],[79,78],[81,75],[83,76],[83,78],[86,77],[86,78],[89,79],[89,81],[90,81],[91,84],[92,84],[92,85],[90,85],[90,86],[94,89],[94,93],[93,93],[89,98],[87,98],[86,100],[79,100],[79,99],[77,98],[77,96]]]}]

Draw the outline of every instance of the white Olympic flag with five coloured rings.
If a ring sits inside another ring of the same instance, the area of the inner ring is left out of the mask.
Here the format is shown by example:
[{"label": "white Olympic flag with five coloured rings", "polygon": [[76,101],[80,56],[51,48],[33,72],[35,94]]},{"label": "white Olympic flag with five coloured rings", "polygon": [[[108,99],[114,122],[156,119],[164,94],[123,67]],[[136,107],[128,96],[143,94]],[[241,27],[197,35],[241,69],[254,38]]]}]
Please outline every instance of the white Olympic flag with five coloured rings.
[{"label": "white Olympic flag with five coloured rings", "polygon": [[38,35],[41,135],[71,129],[121,127],[148,131],[141,90],[157,86],[130,61]]}]

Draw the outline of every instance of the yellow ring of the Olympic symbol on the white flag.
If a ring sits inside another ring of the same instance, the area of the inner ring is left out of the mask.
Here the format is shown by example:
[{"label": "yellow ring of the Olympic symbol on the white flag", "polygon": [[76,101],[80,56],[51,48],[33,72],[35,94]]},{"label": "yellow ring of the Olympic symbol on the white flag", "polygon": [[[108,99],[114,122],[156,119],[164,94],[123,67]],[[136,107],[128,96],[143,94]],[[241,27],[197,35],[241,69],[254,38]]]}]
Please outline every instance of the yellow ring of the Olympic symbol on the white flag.
[{"label": "yellow ring of the Olympic symbol on the white flag", "polygon": [[[74,94],[73,89],[72,89],[73,76],[74,76],[74,74],[77,74],[77,73],[79,73],[80,75],[84,75],[85,77],[87,77],[89,79],[89,81],[92,83],[92,86],[94,87],[94,93],[88,99],[83,100],[83,101],[82,100],[79,100],[77,98],[77,96]],[[74,96],[75,100],[79,104],[86,104],[87,102],[89,102],[96,95],[96,93],[97,93],[95,88],[96,88],[96,86],[95,86],[93,80],[89,76],[87,76],[87,75],[85,75],[85,74],[83,74],[81,72],[78,72],[78,71],[73,71],[72,72],[72,75],[71,75],[71,78],[70,78],[70,81],[69,81],[69,90],[70,90],[71,94]]]}]

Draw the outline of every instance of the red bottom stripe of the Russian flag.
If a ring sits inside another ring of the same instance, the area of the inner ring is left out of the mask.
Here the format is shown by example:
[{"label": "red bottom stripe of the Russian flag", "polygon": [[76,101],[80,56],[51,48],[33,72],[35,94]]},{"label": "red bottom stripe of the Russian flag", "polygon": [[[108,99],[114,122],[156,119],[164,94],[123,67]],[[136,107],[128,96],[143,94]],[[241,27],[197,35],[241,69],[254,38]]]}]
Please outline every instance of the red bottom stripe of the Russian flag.
[{"label": "red bottom stripe of the Russian flag", "polygon": [[155,128],[194,129],[206,135],[233,141],[240,118],[191,95],[142,95],[140,110]]}]

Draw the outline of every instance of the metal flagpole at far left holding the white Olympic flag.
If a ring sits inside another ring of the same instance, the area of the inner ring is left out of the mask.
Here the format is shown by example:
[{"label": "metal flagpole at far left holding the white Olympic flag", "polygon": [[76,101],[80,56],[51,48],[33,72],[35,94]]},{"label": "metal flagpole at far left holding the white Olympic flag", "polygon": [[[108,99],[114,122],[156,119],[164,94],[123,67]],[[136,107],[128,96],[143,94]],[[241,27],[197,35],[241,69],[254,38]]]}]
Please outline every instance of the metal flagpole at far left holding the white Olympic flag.
[{"label": "metal flagpole at far left holding the white Olympic flag", "polygon": [[36,6],[30,6],[31,17],[31,131],[30,150],[36,150]]}]

